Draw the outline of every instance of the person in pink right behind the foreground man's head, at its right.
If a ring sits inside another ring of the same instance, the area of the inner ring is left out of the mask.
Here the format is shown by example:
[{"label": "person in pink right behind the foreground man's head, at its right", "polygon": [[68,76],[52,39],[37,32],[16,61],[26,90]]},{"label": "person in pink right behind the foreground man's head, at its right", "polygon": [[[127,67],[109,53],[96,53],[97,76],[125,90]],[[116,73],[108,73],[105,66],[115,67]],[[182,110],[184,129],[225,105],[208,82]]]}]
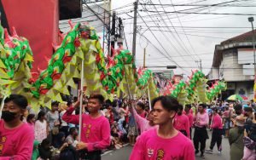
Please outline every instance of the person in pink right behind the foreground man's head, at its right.
[{"label": "person in pink right behind the foreground man's head, at its right", "polygon": [[177,107],[177,115],[174,117],[173,127],[190,139],[189,117],[183,114],[183,106]]}]

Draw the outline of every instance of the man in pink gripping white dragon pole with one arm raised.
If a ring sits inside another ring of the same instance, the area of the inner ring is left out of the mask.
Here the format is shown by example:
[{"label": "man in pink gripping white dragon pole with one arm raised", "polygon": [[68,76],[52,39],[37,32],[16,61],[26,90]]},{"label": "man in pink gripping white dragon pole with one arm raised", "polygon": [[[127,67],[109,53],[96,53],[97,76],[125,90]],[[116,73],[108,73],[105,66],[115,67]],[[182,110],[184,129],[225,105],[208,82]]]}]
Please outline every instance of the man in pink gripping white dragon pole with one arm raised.
[{"label": "man in pink gripping white dragon pole with one arm raised", "polygon": [[[75,107],[79,106],[79,101]],[[90,114],[82,115],[81,142],[76,147],[81,150],[82,158],[100,160],[102,150],[110,146],[110,125],[107,117],[100,112],[103,102],[102,94],[91,94],[87,106]],[[67,123],[79,124],[79,115],[72,115],[74,110],[74,107],[70,107],[62,119]]]}]

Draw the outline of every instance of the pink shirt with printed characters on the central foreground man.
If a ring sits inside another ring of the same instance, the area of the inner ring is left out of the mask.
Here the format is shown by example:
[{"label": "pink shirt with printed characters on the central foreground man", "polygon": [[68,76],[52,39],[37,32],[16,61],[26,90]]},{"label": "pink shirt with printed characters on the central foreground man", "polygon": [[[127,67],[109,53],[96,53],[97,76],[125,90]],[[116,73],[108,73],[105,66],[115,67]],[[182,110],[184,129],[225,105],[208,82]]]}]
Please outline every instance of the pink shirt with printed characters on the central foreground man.
[{"label": "pink shirt with printed characters on the central foreground man", "polygon": [[150,129],[137,140],[130,160],[195,160],[192,141],[178,132],[171,139],[157,135],[157,129]]}]

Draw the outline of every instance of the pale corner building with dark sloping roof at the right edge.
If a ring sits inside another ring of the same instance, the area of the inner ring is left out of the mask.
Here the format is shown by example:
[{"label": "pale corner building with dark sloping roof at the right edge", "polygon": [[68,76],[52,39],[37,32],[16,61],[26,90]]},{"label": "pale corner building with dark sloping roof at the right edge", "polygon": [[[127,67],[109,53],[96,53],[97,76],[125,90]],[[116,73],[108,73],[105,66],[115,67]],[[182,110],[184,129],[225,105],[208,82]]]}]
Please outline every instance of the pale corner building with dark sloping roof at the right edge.
[{"label": "pale corner building with dark sloping roof at the right edge", "polygon": [[208,79],[227,82],[227,90],[222,94],[222,100],[226,100],[231,94],[242,94],[248,100],[253,99],[252,39],[253,31],[249,31],[215,46]]}]

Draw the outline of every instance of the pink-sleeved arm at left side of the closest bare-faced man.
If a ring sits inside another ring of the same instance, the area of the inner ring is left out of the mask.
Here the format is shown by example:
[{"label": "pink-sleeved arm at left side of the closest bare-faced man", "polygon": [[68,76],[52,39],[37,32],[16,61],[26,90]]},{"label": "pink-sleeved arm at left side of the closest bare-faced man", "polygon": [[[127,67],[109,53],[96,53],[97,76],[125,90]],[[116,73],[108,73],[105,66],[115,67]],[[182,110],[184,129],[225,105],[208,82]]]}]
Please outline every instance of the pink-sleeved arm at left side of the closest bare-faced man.
[{"label": "pink-sleeved arm at left side of the closest bare-faced man", "polygon": [[137,159],[140,159],[140,160],[146,159],[144,148],[143,148],[142,136],[137,139],[137,142],[133,147],[133,150],[131,151],[130,160],[137,160]]}]

